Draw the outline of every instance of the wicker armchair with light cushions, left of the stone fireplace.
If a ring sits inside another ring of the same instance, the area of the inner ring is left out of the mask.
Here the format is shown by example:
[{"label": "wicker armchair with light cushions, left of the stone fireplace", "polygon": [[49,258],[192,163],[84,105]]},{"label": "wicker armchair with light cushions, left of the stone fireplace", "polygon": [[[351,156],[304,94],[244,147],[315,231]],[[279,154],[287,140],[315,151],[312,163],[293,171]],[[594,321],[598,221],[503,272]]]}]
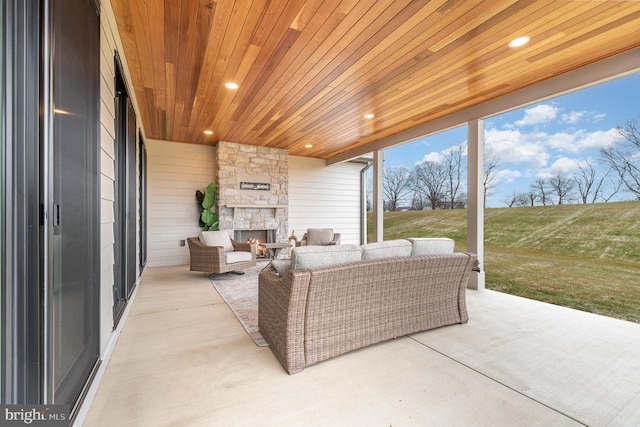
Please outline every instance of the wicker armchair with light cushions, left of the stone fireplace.
[{"label": "wicker armchair with light cushions, left of the stone fireplace", "polygon": [[[208,232],[213,233],[213,232]],[[225,233],[226,231],[222,231]],[[228,234],[227,234],[228,237]],[[199,237],[189,237],[190,271],[221,274],[238,272],[256,265],[256,248],[229,238],[230,245],[208,246]]]}]

